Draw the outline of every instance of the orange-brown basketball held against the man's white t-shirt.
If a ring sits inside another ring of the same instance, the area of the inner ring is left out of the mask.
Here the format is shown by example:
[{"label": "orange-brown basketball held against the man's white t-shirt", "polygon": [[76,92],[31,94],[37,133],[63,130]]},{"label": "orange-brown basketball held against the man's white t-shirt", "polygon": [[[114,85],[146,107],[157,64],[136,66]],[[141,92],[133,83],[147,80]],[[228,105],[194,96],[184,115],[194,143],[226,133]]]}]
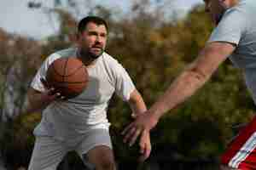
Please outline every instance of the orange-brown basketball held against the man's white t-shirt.
[{"label": "orange-brown basketball held against the man's white t-shirt", "polygon": [[55,88],[66,99],[81,94],[87,87],[88,78],[86,66],[75,57],[56,59],[46,74],[49,87]]}]

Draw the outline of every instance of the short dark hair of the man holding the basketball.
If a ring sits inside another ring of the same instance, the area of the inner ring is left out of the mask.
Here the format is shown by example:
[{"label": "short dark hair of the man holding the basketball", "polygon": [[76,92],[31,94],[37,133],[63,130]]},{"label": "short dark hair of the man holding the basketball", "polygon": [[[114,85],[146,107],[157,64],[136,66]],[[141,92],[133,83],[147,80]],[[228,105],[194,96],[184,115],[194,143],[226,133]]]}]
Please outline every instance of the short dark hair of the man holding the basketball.
[{"label": "short dark hair of the man holding the basketball", "polygon": [[96,25],[104,25],[108,31],[108,24],[105,20],[98,16],[87,16],[79,21],[78,31],[83,32],[89,22],[93,22]]}]

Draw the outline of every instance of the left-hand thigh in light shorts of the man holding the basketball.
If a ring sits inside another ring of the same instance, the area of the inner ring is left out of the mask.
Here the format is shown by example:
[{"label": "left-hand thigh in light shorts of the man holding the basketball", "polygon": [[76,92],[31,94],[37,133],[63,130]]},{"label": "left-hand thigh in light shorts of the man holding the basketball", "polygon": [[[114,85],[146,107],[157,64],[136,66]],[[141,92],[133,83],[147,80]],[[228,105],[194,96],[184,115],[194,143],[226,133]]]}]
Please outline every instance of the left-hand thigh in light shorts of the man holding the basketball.
[{"label": "left-hand thigh in light shorts of the man holding the basketball", "polygon": [[37,137],[28,170],[55,170],[67,154],[66,147],[51,137]]}]

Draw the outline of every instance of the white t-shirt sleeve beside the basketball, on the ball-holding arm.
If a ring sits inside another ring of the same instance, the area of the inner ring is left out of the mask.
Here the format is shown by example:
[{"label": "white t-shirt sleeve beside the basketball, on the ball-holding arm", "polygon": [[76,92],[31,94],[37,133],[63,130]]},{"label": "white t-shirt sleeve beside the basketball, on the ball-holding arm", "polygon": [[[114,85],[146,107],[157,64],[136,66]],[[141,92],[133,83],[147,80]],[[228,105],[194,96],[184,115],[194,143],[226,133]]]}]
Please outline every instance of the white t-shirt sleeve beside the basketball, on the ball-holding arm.
[{"label": "white t-shirt sleeve beside the basketball, on the ball-holding arm", "polygon": [[44,92],[45,88],[43,83],[41,82],[41,78],[46,77],[46,72],[49,68],[49,65],[55,60],[61,57],[59,54],[51,54],[47,59],[44,60],[41,67],[38,69],[36,76],[32,79],[31,88],[38,90],[39,92]]}]

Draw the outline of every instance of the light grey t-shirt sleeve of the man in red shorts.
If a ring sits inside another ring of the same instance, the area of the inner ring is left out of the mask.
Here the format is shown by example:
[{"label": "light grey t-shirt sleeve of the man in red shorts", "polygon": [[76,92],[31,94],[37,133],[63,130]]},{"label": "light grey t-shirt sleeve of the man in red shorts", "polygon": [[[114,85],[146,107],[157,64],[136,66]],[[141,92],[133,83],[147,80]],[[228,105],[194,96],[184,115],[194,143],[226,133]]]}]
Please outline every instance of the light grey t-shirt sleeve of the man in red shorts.
[{"label": "light grey t-shirt sleeve of the man in red shorts", "polygon": [[208,42],[230,42],[238,45],[246,31],[247,17],[236,8],[230,8],[212,31]]}]

